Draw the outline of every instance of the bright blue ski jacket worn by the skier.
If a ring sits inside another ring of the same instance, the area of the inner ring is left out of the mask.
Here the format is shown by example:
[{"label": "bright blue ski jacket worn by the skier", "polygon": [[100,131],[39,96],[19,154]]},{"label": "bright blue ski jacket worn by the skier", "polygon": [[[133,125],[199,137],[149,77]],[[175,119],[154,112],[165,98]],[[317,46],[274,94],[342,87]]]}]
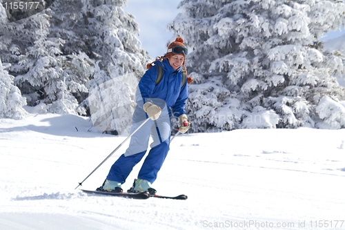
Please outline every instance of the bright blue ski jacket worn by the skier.
[{"label": "bright blue ski jacket worn by the skier", "polygon": [[186,79],[182,86],[181,67],[174,70],[168,59],[157,61],[155,64],[161,66],[164,70],[161,81],[156,86],[157,66],[152,66],[146,70],[139,82],[138,89],[140,92],[137,92],[136,95],[137,105],[141,109],[146,102],[152,102],[161,106],[162,109],[167,106],[169,117],[172,115],[179,117],[179,115],[186,114],[185,104],[186,99],[188,99],[188,83]]}]

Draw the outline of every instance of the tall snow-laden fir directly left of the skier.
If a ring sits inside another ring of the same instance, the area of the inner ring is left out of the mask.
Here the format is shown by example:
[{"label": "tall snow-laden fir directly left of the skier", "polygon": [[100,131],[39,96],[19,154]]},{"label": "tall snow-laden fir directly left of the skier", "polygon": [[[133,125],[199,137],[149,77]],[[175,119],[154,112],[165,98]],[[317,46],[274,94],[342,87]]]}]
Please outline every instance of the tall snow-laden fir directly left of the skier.
[{"label": "tall snow-laden fir directly left of the skier", "polygon": [[135,103],[132,93],[137,86],[133,82],[144,75],[150,61],[135,37],[139,26],[123,9],[126,2],[82,0],[83,20],[75,25],[81,31],[87,28],[81,41],[87,44],[86,54],[95,60],[94,73],[86,84],[95,94],[88,103],[95,111],[92,114],[94,124],[105,124],[102,131],[119,129],[115,126],[129,123],[128,112]]}]

